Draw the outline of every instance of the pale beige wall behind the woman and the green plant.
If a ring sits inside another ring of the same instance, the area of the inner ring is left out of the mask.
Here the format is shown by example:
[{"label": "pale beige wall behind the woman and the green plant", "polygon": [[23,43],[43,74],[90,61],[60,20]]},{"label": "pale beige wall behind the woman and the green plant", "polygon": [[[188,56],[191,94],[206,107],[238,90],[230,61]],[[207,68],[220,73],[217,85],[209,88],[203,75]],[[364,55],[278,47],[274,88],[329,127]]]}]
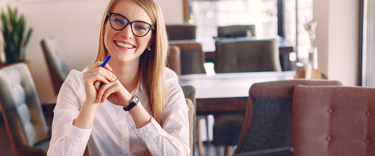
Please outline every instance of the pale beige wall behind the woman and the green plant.
[{"label": "pale beige wall behind the woman and the green plant", "polygon": [[[89,66],[98,49],[101,19],[109,0],[1,0],[0,9],[6,4],[17,6],[33,28],[26,49],[26,59],[33,65],[32,76],[40,101],[47,102],[54,96],[51,78],[40,46],[40,40],[54,37],[62,56],[72,69],[83,70]],[[162,7],[167,24],[183,22],[182,1],[157,0]]]}]

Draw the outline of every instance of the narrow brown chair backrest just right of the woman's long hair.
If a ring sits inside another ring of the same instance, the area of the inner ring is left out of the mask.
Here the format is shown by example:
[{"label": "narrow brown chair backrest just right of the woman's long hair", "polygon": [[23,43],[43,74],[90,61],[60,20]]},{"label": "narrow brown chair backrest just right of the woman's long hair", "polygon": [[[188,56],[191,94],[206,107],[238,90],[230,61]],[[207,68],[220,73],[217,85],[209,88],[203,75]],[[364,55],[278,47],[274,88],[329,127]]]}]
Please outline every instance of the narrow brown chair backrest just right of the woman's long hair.
[{"label": "narrow brown chair backrest just right of the woman's long hair", "polygon": [[166,67],[171,68],[177,75],[181,75],[181,50],[176,45],[169,47],[169,55],[167,56]]}]

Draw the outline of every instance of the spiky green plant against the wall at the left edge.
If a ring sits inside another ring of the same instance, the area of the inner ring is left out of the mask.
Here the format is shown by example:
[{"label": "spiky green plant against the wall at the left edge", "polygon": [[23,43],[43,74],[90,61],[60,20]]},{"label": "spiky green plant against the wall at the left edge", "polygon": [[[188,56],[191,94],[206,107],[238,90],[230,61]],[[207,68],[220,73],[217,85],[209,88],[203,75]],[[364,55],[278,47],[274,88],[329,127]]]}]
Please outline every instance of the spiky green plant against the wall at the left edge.
[{"label": "spiky green plant against the wall at the left edge", "polygon": [[25,62],[25,48],[33,31],[32,28],[28,28],[25,31],[25,18],[22,14],[18,17],[17,8],[12,10],[8,5],[7,9],[7,15],[1,10],[1,34],[4,39],[3,48],[6,62],[5,64],[0,64],[0,67],[17,62]]}]

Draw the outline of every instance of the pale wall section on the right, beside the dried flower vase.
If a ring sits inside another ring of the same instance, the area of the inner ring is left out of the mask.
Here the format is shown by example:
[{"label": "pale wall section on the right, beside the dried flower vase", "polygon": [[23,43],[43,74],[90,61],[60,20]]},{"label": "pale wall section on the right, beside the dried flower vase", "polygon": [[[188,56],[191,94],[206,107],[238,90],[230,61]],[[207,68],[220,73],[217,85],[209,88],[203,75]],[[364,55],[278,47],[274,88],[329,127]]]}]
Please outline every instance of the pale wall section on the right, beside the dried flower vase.
[{"label": "pale wall section on the right, beside the dried flower vase", "polygon": [[359,55],[359,2],[314,0],[318,22],[318,66],[329,79],[357,85]]}]

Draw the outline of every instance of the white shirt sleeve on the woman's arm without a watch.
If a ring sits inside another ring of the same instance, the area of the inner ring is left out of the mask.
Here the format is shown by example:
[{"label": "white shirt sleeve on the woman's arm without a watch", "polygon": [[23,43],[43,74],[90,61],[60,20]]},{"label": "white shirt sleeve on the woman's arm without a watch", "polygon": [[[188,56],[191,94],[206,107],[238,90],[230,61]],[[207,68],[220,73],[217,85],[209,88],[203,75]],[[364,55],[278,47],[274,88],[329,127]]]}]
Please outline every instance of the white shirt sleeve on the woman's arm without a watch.
[{"label": "white shirt sleeve on the woman's arm without a watch", "polygon": [[48,156],[82,156],[90,138],[91,130],[72,125],[81,110],[80,88],[82,74],[72,70],[61,86],[54,109],[52,137]]}]

